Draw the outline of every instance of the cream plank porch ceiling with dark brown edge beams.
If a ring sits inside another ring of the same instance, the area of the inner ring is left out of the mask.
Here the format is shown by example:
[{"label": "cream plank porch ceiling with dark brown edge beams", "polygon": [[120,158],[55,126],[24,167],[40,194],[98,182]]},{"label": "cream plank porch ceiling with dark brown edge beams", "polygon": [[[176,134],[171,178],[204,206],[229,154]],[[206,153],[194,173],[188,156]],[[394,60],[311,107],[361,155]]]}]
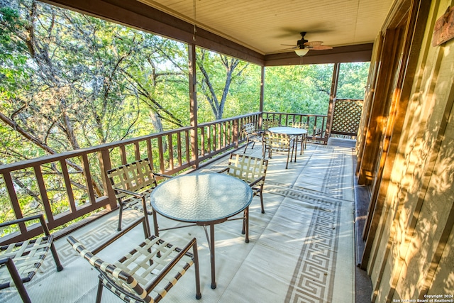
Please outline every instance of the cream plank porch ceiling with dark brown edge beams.
[{"label": "cream plank porch ceiling with dark brown edge beams", "polygon": [[[370,60],[372,43],[393,3],[393,0],[40,1],[265,66]],[[301,31],[307,32],[307,40],[323,41],[323,45],[333,49],[310,50],[303,61],[292,49],[301,39]]]}]

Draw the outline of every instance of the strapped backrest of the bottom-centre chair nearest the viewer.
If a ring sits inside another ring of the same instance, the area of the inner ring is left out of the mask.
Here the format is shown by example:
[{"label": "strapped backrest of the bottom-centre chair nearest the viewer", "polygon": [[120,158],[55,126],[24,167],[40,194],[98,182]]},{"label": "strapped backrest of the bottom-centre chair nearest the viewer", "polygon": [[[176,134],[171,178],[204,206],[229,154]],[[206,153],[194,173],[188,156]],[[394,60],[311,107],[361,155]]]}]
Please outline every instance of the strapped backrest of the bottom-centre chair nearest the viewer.
[{"label": "strapped backrest of the bottom-centre chair nearest the viewer", "polygon": [[[109,281],[109,283],[115,287],[118,292],[131,297],[129,299],[140,299],[145,302],[153,302],[153,299],[147,294],[143,287],[140,286],[133,275],[130,275],[125,270],[118,268],[116,265],[104,262],[101,258],[87,250],[82,243],[77,241],[75,238],[72,238],[72,236],[69,236],[67,241],[70,242],[72,248],[74,248],[74,250],[76,250],[82,258],[87,260],[90,265],[96,268],[101,277]],[[126,298],[125,301],[129,302],[129,299]]]}]

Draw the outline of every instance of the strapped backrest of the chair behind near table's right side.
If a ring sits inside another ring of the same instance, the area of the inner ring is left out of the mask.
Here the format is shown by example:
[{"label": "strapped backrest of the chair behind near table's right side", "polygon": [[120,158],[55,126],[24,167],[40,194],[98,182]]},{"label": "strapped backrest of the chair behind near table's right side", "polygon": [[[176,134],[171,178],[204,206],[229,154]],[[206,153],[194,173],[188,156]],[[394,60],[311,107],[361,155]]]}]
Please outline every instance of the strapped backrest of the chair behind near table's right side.
[{"label": "strapped backrest of the chair behind near table's right side", "polygon": [[231,153],[228,160],[227,174],[238,177],[241,180],[252,183],[262,178],[256,185],[265,182],[267,175],[268,160],[251,157],[249,155]]}]

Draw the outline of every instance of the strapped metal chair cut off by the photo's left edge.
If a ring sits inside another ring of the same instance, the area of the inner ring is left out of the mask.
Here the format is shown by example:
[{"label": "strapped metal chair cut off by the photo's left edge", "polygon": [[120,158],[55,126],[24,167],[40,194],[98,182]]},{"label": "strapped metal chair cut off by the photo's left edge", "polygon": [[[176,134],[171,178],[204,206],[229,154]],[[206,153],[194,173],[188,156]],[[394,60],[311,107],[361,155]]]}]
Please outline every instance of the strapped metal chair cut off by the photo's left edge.
[{"label": "strapped metal chair cut off by the photo's left edge", "polygon": [[0,228],[33,220],[40,222],[43,236],[0,246],[0,290],[16,286],[23,302],[31,302],[23,283],[29,282],[35,276],[49,250],[55,260],[57,271],[63,270],[53,244],[53,236],[43,214],[4,222],[0,224]]}]

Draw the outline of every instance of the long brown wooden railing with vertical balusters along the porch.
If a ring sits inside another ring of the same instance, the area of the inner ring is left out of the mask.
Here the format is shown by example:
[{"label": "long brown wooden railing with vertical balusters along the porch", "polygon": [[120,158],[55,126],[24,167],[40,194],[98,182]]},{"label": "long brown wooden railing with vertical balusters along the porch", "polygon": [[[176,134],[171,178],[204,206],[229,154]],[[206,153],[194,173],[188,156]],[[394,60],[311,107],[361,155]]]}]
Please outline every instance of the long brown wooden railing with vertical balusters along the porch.
[{"label": "long brown wooden railing with vertical balusters along the porch", "polygon": [[[106,177],[106,171],[112,167],[148,157],[156,172],[175,175],[195,170],[228,150],[239,148],[245,139],[240,127],[253,122],[260,128],[262,117],[279,119],[282,125],[288,125],[289,121],[307,121],[314,126],[309,135],[317,140],[323,138],[317,136],[316,128],[326,128],[326,116],[258,112],[201,123],[196,131],[192,127],[177,128],[0,165],[0,192],[7,193],[11,201],[11,209],[2,211],[9,213],[6,219],[43,213],[50,229],[67,227],[60,231],[65,234],[81,225],[72,224],[75,219],[94,212],[107,213],[118,207]],[[26,232],[26,226],[19,228]],[[37,234],[38,228],[28,228],[27,236]],[[14,233],[1,239],[4,243],[16,240]]]}]

